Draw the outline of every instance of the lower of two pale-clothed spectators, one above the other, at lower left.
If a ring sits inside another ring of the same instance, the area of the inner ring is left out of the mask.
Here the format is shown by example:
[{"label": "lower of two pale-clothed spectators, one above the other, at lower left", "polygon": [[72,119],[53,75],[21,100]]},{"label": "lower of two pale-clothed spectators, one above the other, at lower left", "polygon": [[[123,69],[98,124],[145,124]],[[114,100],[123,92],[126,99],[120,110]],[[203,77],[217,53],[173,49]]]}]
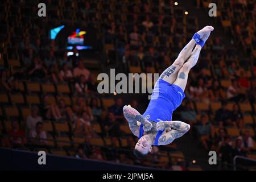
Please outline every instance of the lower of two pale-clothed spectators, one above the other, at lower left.
[{"label": "lower of two pale-clothed spectators, one above the other, at lower left", "polygon": [[46,145],[47,144],[47,137],[46,131],[43,130],[43,122],[36,123],[36,130],[31,131],[30,138],[32,144],[38,145]]}]

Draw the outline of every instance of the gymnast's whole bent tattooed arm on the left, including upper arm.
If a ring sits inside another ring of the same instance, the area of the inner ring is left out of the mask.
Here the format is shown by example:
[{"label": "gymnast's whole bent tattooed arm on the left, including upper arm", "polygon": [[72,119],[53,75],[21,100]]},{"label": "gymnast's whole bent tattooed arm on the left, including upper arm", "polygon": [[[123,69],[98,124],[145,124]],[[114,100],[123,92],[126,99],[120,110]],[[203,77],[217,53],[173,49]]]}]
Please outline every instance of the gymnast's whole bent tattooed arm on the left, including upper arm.
[{"label": "gymnast's whole bent tattooed arm on the left, including upper arm", "polygon": [[152,128],[151,122],[147,121],[147,119],[145,119],[143,115],[139,114],[139,112],[133,107],[123,106],[123,115],[125,115],[125,118],[129,123],[131,132],[137,137],[139,136],[137,121],[143,124],[144,131],[149,131]]}]

